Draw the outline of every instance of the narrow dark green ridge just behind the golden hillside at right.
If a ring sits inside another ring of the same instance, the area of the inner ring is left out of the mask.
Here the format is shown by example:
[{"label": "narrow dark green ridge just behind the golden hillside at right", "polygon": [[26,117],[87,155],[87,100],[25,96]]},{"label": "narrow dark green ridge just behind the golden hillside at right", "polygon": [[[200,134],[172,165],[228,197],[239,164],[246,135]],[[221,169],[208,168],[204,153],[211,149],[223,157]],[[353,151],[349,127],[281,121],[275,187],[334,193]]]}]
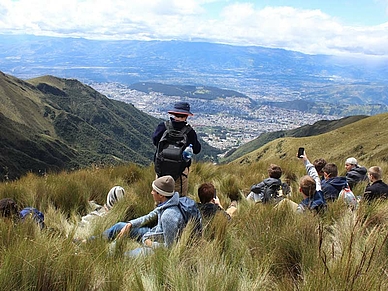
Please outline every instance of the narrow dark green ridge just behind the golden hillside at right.
[{"label": "narrow dark green ridge just behind the golden hillside at right", "polygon": [[314,136],[322,133],[326,133],[342,126],[352,124],[358,120],[366,118],[365,115],[349,116],[344,117],[339,120],[321,120],[317,121],[314,124],[304,125],[291,130],[279,130],[274,132],[266,132],[261,134],[259,137],[254,140],[243,144],[242,146],[229,151],[221,160],[222,163],[228,163],[233,160],[240,158],[243,155],[246,155],[263,145],[276,140],[282,137],[307,137]]}]

